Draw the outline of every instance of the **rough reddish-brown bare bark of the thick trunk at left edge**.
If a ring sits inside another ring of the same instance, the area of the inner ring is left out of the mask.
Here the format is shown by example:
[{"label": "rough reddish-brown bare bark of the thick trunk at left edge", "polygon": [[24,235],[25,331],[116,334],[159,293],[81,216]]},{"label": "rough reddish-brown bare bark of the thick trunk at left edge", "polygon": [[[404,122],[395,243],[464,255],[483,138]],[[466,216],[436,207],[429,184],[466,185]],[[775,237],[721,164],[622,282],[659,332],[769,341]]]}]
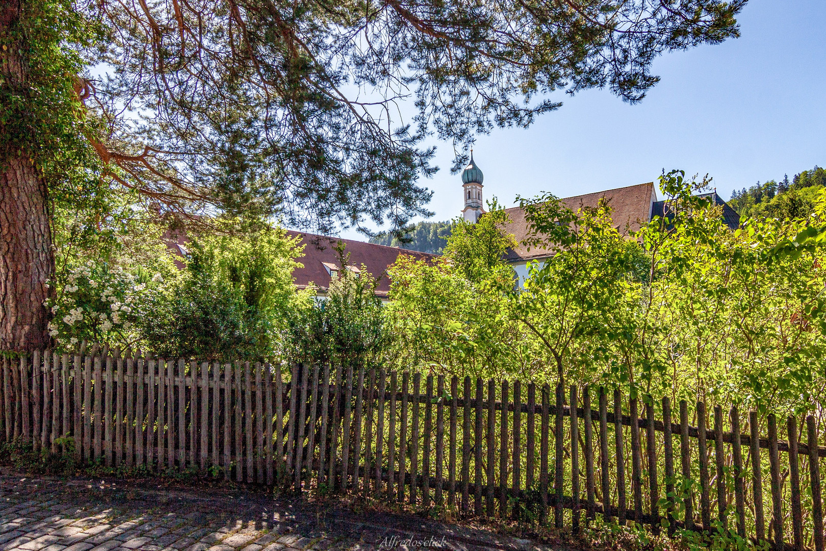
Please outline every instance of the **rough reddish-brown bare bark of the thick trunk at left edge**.
[{"label": "rough reddish-brown bare bark of the thick trunk at left edge", "polygon": [[[21,0],[0,0],[0,85],[26,86],[22,39],[8,41],[21,17]],[[0,126],[2,131],[2,126]],[[11,143],[0,150],[0,350],[29,351],[49,344],[46,282],[55,272],[48,190],[29,155]]]}]

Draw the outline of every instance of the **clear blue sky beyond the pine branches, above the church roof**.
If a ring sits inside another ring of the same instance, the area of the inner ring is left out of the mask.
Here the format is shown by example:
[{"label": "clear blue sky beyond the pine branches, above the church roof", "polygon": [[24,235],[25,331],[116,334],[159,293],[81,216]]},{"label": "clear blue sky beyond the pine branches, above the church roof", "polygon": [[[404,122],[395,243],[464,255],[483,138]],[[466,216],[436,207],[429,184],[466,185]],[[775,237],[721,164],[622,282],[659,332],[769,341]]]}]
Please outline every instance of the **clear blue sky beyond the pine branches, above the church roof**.
[{"label": "clear blue sky beyond the pine branches, above the church roof", "polygon": [[[662,80],[629,105],[607,90],[561,95],[563,107],[528,129],[482,135],[474,146],[486,198],[558,197],[650,182],[662,169],[709,173],[732,190],[826,164],[826,2],[751,0],[742,36],[663,55]],[[463,207],[453,150],[436,142],[431,221]],[[342,237],[363,240],[353,230]]]}]

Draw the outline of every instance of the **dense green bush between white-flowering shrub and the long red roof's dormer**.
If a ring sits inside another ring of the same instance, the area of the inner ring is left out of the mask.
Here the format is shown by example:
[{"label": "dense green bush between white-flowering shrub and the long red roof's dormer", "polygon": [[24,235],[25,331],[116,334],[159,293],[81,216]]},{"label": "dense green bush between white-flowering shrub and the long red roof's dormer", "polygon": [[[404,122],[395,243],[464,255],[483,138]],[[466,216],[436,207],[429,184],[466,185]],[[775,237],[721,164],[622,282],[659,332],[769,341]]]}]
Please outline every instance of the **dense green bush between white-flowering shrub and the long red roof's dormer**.
[{"label": "dense green bush between white-flowering shrub and the long red roof's dormer", "polygon": [[201,235],[178,278],[137,311],[141,344],[166,356],[273,360],[287,320],[306,309],[292,269],[297,240],[280,229]]}]

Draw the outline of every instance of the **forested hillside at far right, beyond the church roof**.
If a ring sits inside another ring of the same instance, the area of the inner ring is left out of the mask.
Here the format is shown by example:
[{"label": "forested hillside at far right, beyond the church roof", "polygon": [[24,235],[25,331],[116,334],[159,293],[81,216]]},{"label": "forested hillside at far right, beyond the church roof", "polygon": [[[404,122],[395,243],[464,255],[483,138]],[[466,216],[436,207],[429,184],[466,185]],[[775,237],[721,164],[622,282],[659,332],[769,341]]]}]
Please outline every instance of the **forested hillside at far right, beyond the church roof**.
[{"label": "forested hillside at far right, beyond the church roof", "polygon": [[800,218],[809,216],[817,195],[826,185],[826,169],[817,165],[804,170],[789,181],[784,175],[780,182],[769,180],[751,188],[734,190],[729,205],[741,217]]}]

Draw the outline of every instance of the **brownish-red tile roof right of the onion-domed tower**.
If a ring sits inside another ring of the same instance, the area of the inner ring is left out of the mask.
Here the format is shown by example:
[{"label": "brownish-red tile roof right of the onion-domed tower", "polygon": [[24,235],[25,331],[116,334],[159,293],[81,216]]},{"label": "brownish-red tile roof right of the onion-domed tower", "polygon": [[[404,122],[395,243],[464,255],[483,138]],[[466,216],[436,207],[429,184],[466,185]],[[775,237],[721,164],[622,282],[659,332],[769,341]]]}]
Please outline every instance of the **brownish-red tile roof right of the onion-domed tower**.
[{"label": "brownish-red tile roof right of the onion-domed tower", "polygon": [[[614,227],[623,235],[629,231],[639,230],[641,223],[651,220],[651,206],[657,197],[654,195],[653,182],[640,183],[636,186],[626,188],[609,189],[604,192],[587,193],[576,197],[565,197],[561,201],[566,207],[577,211],[580,207],[596,207],[600,199],[605,197],[610,205],[611,216],[614,219]],[[506,229],[514,235],[516,242],[515,249],[509,249],[506,253],[506,260],[510,262],[544,258],[553,253],[547,249],[528,250],[522,245],[522,240],[529,235],[528,222],[525,221],[525,211],[520,207],[506,209],[510,217],[510,223]]]}]

